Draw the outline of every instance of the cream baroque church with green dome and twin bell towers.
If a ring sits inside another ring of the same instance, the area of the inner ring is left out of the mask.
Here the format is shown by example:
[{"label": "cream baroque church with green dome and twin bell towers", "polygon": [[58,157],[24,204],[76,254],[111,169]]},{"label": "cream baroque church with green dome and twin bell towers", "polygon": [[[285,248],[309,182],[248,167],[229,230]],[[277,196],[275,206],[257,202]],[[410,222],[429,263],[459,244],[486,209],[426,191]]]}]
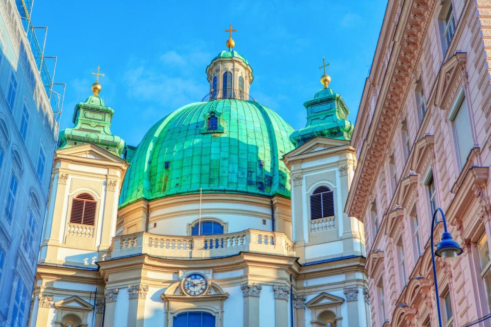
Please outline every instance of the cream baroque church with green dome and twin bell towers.
[{"label": "cream baroque church with green dome and twin bell towers", "polygon": [[111,133],[98,80],[75,106],[30,326],[371,325],[363,224],[343,213],[356,166],[348,108],[324,63],[294,130],[249,96],[252,67],[227,31],[208,95],[137,147]]}]

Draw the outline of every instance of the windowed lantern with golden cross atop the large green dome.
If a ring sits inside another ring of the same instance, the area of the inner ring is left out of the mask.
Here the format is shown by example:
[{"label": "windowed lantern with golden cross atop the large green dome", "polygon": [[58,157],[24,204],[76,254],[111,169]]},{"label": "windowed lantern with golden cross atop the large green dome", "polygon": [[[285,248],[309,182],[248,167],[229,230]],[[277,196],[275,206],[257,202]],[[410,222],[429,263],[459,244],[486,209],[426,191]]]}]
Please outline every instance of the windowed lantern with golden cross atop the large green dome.
[{"label": "windowed lantern with golden cross atop the large green dome", "polygon": [[249,88],[254,79],[252,68],[247,59],[233,50],[235,41],[232,39],[232,25],[228,30],[228,51],[220,52],[206,67],[206,75],[210,83],[209,101],[219,99],[253,100],[249,96]]}]

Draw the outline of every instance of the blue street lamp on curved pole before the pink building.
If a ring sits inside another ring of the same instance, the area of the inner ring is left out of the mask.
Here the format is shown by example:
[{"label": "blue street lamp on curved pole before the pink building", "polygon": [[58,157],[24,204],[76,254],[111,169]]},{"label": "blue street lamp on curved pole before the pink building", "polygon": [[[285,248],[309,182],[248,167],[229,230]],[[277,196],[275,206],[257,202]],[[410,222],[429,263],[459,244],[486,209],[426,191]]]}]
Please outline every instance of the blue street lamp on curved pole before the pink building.
[{"label": "blue street lamp on curved pole before the pink building", "polygon": [[[435,228],[435,218],[436,214],[440,212],[441,218],[443,220],[443,233],[441,235],[441,241],[436,245],[436,251],[434,249],[433,243],[433,231]],[[436,279],[436,265],[435,265],[435,254],[438,255],[444,262],[453,262],[458,255],[462,253],[462,248],[457,242],[452,238],[451,233],[447,230],[447,220],[445,219],[445,214],[441,208],[436,208],[433,213],[433,218],[431,220],[431,261],[433,263],[433,278],[435,281],[435,292],[436,292],[436,309],[438,311],[438,323],[440,327],[443,327],[441,322],[441,312],[440,312],[440,296],[438,293],[438,281]]]}]

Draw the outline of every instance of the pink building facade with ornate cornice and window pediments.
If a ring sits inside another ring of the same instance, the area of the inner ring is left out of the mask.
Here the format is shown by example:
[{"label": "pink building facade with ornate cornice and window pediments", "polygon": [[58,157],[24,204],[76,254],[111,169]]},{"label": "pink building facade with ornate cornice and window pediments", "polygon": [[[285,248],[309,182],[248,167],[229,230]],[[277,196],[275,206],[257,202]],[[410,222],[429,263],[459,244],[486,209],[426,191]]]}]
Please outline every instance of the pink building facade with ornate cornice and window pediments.
[{"label": "pink building facade with ornate cornice and window pediments", "polygon": [[[345,208],[365,226],[373,326],[437,326],[436,296],[445,326],[491,313],[490,74],[491,1],[389,0]],[[452,264],[437,258],[437,295],[436,207],[464,250]]]}]

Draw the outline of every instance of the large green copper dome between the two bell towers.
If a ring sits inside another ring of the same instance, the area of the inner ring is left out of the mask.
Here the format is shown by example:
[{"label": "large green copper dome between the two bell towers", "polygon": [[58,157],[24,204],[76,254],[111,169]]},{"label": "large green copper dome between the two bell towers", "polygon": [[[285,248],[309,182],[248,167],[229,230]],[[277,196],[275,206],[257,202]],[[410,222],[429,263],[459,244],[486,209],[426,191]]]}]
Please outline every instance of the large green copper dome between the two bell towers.
[{"label": "large green copper dome between the two bell towers", "polygon": [[290,196],[280,160],[293,128],[270,108],[235,99],[198,102],[167,115],[143,137],[126,172],[120,206],[198,193]]}]

